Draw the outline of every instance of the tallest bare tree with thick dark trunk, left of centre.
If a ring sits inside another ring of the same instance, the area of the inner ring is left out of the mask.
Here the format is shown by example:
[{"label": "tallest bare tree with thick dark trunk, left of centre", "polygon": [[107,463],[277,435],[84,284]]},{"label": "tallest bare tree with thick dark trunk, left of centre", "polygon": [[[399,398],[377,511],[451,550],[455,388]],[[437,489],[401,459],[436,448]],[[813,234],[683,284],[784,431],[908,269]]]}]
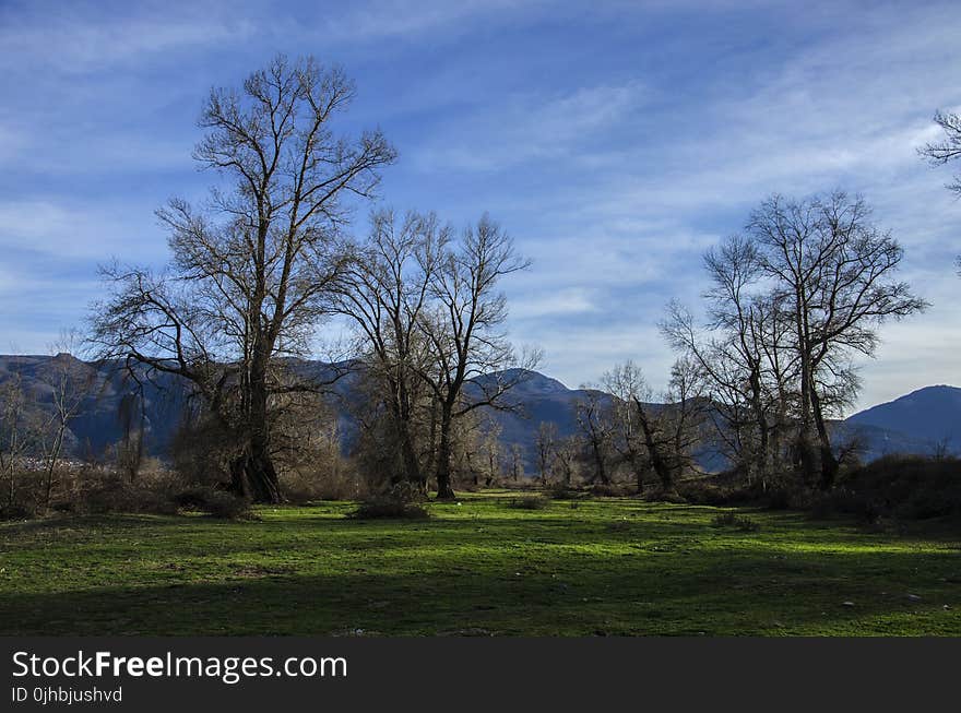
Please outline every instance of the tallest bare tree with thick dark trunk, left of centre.
[{"label": "tallest bare tree with thick dark trunk, left of centre", "polygon": [[[309,350],[345,261],[351,198],[370,198],[395,152],[379,131],[348,139],[332,121],[354,84],[313,59],[278,56],[241,91],[213,90],[194,158],[228,183],[209,205],[158,212],[173,261],[154,274],[104,270],[111,295],[94,309],[102,356],[178,375],[234,435],[234,489],[281,499],[271,457],[273,399],[309,390],[282,357]],[[286,377],[286,378],[285,378]]]}]

